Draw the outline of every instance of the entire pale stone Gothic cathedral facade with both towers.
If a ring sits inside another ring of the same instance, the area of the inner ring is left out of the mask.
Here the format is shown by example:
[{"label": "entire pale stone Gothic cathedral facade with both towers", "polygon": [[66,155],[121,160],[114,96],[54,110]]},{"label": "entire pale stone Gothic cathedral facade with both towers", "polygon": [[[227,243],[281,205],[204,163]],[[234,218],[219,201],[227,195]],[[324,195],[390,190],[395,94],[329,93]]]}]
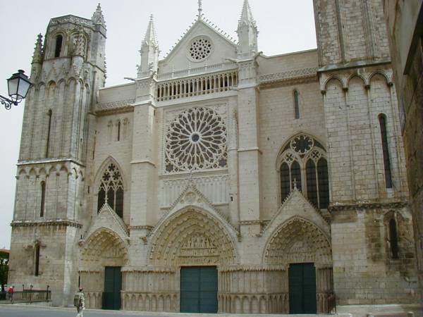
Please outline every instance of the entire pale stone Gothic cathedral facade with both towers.
[{"label": "entire pale stone Gothic cathedral facade with both towers", "polygon": [[52,18],[32,59],[9,280],[88,308],[325,313],[419,299],[380,0],[314,0],[317,49],[266,56],[202,13],[104,87],[106,25]]}]

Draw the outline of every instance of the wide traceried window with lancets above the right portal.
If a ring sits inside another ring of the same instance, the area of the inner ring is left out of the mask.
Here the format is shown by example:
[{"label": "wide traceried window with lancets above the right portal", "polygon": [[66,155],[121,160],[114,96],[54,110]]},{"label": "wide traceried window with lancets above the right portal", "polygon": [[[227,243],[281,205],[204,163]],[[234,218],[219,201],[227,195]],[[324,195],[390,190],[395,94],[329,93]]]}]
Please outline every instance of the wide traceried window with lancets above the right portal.
[{"label": "wide traceried window with lancets above the right portal", "polygon": [[297,187],[318,209],[329,206],[328,163],[324,147],[312,137],[293,137],[278,159],[281,201]]}]

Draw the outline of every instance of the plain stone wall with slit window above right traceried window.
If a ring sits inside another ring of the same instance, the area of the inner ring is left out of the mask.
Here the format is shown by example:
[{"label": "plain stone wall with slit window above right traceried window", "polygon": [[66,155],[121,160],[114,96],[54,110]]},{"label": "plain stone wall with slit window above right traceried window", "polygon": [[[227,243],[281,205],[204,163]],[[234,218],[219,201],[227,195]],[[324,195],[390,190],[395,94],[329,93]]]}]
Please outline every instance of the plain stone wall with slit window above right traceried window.
[{"label": "plain stone wall with slit window above right traceried window", "polygon": [[[294,90],[299,93],[300,118],[295,119]],[[262,151],[262,219],[281,206],[278,155],[288,140],[300,132],[317,138],[326,147],[323,100],[317,80],[264,87],[260,91],[260,149]]]}]

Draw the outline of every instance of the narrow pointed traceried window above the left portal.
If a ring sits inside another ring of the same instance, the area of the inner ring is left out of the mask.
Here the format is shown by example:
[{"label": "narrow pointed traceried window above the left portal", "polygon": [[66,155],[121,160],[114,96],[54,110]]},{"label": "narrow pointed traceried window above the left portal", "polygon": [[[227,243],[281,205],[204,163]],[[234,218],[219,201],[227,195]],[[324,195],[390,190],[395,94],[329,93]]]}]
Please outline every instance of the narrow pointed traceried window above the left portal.
[{"label": "narrow pointed traceried window above the left portal", "polygon": [[123,218],[123,180],[120,170],[110,163],[102,177],[98,192],[97,212],[108,204],[116,214]]}]

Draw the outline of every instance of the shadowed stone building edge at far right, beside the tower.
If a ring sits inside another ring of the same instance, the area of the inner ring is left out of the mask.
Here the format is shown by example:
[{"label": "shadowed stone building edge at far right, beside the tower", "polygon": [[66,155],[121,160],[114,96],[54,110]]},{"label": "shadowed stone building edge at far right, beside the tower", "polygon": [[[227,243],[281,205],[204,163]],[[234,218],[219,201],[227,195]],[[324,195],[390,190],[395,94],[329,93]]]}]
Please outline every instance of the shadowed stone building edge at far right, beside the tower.
[{"label": "shadowed stone building edge at far right, beside the tower", "polygon": [[423,290],[423,1],[384,1]]}]

